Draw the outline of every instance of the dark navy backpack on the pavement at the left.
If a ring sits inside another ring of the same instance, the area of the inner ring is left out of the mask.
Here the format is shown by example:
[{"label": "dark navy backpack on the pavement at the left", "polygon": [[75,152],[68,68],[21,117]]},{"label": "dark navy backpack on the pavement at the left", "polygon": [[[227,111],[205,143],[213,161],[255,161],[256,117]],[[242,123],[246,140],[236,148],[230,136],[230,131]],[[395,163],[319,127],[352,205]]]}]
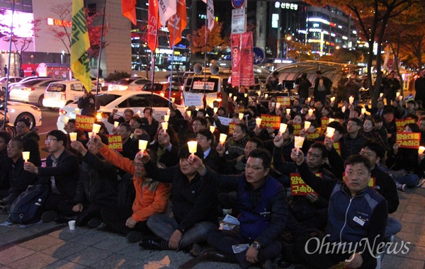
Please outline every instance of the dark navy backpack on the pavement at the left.
[{"label": "dark navy backpack on the pavement at the left", "polygon": [[50,193],[49,185],[30,185],[11,205],[9,222],[33,224],[40,221],[42,206]]}]

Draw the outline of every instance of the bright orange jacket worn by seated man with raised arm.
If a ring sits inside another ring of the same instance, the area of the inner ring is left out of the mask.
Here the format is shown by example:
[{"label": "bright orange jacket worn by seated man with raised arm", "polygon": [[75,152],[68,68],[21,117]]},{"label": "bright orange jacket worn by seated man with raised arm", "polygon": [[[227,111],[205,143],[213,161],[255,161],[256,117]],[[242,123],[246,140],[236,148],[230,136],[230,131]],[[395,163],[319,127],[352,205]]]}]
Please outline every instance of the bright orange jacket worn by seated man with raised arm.
[{"label": "bright orange jacket worn by seated man with raised arm", "polygon": [[[135,166],[130,159],[120,156],[108,146],[103,145],[99,150],[102,156],[111,164],[135,175]],[[132,218],[136,222],[143,222],[153,214],[163,213],[168,205],[171,185],[152,180],[152,178],[139,178],[133,176],[136,197],[132,205]]]}]

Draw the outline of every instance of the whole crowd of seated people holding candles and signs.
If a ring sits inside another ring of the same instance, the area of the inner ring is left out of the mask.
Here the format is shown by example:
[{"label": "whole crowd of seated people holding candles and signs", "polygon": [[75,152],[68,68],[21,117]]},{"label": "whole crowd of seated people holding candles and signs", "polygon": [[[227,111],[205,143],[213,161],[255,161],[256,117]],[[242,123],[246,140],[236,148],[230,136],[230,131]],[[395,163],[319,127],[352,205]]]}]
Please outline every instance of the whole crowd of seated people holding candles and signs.
[{"label": "whole crowd of seated people holding candles and signs", "polygon": [[[311,236],[380,242],[402,229],[388,214],[397,210],[398,191],[420,185],[425,154],[397,144],[397,132],[422,133],[425,145],[425,111],[398,98],[388,105],[380,99],[377,108],[367,102],[364,113],[345,99],[295,98],[285,106],[275,96],[241,96],[229,98],[227,108],[215,102],[180,111],[172,104],[166,130],[151,108],[142,116],[125,110],[111,134],[122,137],[122,151],[108,147],[104,125],[89,137],[69,120],[67,133],[47,134],[45,166],[35,147],[38,135],[20,120],[18,137],[0,132],[1,206],[7,213],[28,185],[49,185],[43,222],[74,219],[77,226],[102,225],[142,248],[189,251],[195,258],[182,268],[203,261],[248,268],[275,259],[283,268],[328,268],[347,259],[349,268],[373,268],[373,253],[323,257],[302,246]],[[261,115],[278,116],[287,127],[280,132],[268,122],[257,124]],[[396,119],[410,121],[397,130]],[[70,132],[77,132],[77,141]],[[295,137],[304,138],[302,146],[295,148]],[[140,151],[140,139],[149,142],[147,149]],[[198,142],[196,152],[188,141]],[[24,161],[22,151],[31,158]],[[303,191],[297,193],[295,184]],[[226,214],[239,225],[219,229]]]}]

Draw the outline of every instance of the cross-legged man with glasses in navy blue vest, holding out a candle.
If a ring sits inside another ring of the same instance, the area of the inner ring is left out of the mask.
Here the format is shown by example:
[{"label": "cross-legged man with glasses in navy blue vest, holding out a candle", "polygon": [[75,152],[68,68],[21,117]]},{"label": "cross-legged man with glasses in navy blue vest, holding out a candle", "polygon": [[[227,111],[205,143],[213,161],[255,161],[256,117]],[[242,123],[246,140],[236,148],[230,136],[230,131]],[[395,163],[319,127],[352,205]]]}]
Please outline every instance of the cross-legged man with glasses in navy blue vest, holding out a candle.
[{"label": "cross-legged man with glasses in navy blue vest, holding out a candle", "polygon": [[245,172],[239,176],[220,175],[207,168],[198,156],[188,159],[204,181],[219,188],[237,190],[241,213],[239,229],[212,230],[208,244],[220,253],[206,251],[186,264],[191,268],[201,261],[239,263],[249,268],[255,263],[276,258],[282,248],[280,236],[285,229],[288,207],[283,186],[268,175],[271,156],[265,149],[248,155]]}]

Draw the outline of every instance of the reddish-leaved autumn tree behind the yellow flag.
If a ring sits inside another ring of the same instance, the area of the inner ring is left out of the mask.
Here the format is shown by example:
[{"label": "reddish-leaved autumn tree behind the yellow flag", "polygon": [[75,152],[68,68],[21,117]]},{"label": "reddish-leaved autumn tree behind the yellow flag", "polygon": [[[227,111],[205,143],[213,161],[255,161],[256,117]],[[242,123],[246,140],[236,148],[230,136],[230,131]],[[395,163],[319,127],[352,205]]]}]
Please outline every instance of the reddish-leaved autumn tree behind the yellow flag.
[{"label": "reddish-leaved autumn tree behind the yellow flag", "polygon": [[[57,14],[58,18],[62,21],[72,21],[72,3],[57,4],[52,6],[50,10]],[[102,33],[102,17],[103,12],[96,12],[90,8],[84,8],[86,14],[87,31],[89,32],[90,49],[88,51],[89,57],[97,57],[101,48],[101,33]],[[103,36],[108,33],[108,25],[104,25]],[[63,25],[58,28],[49,28],[52,35],[60,40],[65,46],[67,53],[71,53],[71,28]],[[103,42],[102,48],[108,44]]]}]

